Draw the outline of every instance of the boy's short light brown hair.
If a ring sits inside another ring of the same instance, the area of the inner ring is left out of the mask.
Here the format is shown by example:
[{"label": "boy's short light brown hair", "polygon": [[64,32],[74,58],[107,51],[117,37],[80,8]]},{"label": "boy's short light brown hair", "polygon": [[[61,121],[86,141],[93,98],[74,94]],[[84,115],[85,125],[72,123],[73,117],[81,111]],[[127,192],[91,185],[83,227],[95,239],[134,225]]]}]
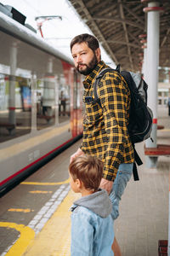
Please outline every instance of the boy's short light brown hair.
[{"label": "boy's short light brown hair", "polygon": [[71,177],[80,179],[85,189],[98,191],[103,173],[103,162],[91,155],[82,155],[72,160],[69,166]]}]

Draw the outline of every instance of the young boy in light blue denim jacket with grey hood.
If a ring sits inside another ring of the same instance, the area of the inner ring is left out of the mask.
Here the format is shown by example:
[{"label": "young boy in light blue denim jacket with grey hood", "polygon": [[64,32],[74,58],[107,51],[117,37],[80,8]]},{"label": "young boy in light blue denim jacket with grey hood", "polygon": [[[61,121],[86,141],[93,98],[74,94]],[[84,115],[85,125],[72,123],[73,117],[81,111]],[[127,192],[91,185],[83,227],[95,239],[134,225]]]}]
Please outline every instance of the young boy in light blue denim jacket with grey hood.
[{"label": "young boy in light blue denim jacket with grey hood", "polygon": [[111,201],[99,189],[103,163],[90,155],[72,160],[71,189],[82,198],[71,207],[71,256],[113,256],[114,240]]}]

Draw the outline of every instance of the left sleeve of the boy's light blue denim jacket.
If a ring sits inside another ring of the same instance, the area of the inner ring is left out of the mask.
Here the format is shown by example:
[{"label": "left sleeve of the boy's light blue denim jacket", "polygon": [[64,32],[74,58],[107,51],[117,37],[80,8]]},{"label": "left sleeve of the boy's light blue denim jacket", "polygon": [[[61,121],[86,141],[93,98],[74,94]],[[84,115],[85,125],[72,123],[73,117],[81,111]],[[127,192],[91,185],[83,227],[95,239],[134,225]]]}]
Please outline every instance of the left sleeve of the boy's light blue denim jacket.
[{"label": "left sleeve of the boy's light blue denim jacket", "polygon": [[81,213],[71,214],[71,256],[93,256],[94,227]]}]

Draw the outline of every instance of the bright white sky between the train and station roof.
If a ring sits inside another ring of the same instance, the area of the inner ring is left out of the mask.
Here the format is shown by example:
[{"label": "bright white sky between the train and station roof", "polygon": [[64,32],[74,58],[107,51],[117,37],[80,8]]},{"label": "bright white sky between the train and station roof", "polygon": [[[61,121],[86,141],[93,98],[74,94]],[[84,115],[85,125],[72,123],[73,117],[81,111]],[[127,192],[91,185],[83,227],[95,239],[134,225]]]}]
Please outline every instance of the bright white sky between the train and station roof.
[{"label": "bright white sky between the train and station roof", "polygon": [[[71,58],[70,42],[78,34],[91,33],[86,24],[80,20],[75,9],[67,0],[0,0],[4,5],[13,6],[26,16],[26,23],[37,30],[35,17],[42,15],[59,15],[60,19],[46,20],[42,24],[43,38],[67,57]],[[39,20],[41,21],[41,20]],[[41,37],[40,33],[37,32]],[[111,57],[101,48],[102,60],[115,67]],[[71,58],[72,59],[72,58]]]}]

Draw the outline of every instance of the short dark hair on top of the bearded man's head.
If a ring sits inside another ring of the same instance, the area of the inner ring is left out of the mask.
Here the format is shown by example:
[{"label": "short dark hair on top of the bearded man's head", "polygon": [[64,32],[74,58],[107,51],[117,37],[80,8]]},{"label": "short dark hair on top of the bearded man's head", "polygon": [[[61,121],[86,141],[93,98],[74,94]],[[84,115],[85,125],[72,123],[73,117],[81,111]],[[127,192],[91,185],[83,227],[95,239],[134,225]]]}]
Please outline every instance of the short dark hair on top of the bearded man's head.
[{"label": "short dark hair on top of the bearded man's head", "polygon": [[99,42],[97,38],[86,33],[86,34],[78,35],[77,37],[71,40],[71,50],[74,44],[82,44],[82,43],[88,44],[88,47],[93,51],[99,48]]}]

